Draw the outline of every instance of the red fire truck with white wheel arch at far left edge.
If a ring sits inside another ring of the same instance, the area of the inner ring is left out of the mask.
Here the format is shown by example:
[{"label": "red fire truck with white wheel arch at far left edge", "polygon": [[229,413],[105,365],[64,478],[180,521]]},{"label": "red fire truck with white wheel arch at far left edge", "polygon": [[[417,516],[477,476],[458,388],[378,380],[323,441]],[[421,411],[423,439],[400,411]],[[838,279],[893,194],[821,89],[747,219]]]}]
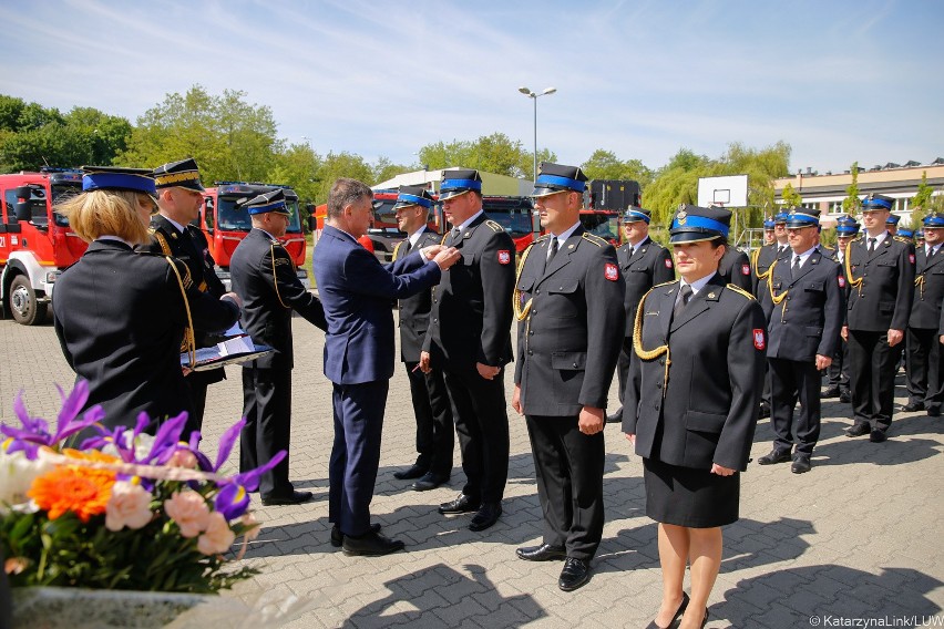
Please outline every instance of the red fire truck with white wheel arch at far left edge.
[{"label": "red fire truck with white wheel arch at far left edge", "polygon": [[81,190],[79,171],[43,168],[39,173],[0,175],[3,317],[24,326],[45,320],[55,279],[88,248],[53,208]]}]

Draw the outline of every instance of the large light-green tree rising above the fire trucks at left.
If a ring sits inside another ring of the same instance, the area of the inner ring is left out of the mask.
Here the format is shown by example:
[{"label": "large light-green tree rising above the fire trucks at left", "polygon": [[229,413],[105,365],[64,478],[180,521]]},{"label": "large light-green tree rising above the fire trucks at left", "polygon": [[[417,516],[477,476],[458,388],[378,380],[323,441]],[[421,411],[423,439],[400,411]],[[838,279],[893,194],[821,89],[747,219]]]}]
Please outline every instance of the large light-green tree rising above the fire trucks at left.
[{"label": "large light-green tree rising above the fire trucks at left", "polygon": [[137,118],[124,164],[154,167],[194,157],[204,181],[264,181],[283,151],[273,112],[245,102],[245,92],[208,94],[194,85],[186,94],[167,94]]}]

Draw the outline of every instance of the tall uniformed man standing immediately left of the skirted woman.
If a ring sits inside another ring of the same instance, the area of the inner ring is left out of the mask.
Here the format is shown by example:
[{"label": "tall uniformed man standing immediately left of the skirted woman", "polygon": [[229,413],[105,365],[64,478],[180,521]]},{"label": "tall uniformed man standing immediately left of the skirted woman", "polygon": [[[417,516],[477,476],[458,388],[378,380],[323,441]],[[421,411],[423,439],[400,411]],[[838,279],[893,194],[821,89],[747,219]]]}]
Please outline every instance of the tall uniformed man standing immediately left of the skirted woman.
[{"label": "tall uniformed man standing immediately left of the skirted woman", "polygon": [[603,536],[604,413],[625,329],[624,279],[613,246],[581,226],[583,171],[545,162],[534,186],[547,235],[519,265],[512,408],[527,423],[544,535],[517,556],[564,560],[557,586],[572,591],[589,579]]}]

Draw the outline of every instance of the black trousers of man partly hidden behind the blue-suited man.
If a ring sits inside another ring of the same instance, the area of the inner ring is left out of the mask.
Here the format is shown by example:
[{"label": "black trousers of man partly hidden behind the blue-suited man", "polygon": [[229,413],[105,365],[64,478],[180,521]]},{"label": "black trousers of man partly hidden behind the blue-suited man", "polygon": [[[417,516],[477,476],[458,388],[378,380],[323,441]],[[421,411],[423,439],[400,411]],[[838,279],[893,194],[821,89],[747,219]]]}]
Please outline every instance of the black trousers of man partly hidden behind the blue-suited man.
[{"label": "black trousers of man partly hidden behind the blue-suited man", "polygon": [[442,371],[423,373],[417,369],[419,362],[403,364],[410,379],[410,398],[417,417],[417,465],[438,476],[449,476],[452,473],[455,432]]}]

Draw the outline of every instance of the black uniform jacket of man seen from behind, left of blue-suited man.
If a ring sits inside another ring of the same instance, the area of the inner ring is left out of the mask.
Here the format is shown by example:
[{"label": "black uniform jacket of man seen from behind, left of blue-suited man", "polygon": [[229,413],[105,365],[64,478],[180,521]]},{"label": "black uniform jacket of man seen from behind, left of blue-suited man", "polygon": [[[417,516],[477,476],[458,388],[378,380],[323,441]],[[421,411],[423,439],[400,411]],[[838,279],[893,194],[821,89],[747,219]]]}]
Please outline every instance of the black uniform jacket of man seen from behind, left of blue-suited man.
[{"label": "black uniform jacket of man seen from behind, left of blue-suited man", "polygon": [[253,228],[229,258],[233,291],[243,300],[243,329],[256,344],[275,352],[244,363],[260,369],[291,369],[291,311],[325,330],[321,302],[299,281],[295,262],[278,240]]}]

